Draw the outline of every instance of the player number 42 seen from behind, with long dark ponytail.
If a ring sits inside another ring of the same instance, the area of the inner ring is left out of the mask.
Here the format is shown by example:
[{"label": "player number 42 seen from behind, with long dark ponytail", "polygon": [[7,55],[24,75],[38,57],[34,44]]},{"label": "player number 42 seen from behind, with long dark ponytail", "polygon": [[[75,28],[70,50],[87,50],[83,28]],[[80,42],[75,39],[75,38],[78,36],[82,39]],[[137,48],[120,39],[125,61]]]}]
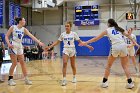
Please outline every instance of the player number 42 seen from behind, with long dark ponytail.
[{"label": "player number 42 seen from behind, with long dark ponytail", "polygon": [[125,35],[125,36],[129,37],[129,39],[134,44],[136,44],[137,46],[138,46],[138,44],[127,33],[125,33],[124,29],[122,29],[118,26],[118,24],[115,22],[114,19],[109,19],[108,20],[108,29],[103,31],[97,37],[81,43],[81,45],[87,45],[89,43],[95,42],[95,41],[99,40],[100,38],[102,38],[104,35],[107,35],[109,37],[112,47],[110,50],[110,55],[108,56],[108,63],[107,63],[106,69],[105,69],[105,75],[104,75],[101,86],[103,88],[108,87],[108,76],[110,74],[111,66],[112,66],[113,62],[115,61],[115,59],[119,56],[121,58],[121,65],[124,69],[124,72],[126,74],[127,81],[128,81],[126,88],[130,88],[130,89],[133,88],[134,83],[131,79],[130,71],[127,66],[127,64],[128,64],[127,45],[122,36]]}]

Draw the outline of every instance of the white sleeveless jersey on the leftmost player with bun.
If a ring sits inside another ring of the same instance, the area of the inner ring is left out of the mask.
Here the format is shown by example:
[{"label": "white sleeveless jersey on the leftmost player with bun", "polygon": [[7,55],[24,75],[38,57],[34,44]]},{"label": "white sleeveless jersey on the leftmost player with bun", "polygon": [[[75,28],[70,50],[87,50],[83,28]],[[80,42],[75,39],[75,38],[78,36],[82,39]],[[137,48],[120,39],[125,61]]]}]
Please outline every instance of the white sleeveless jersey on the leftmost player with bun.
[{"label": "white sleeveless jersey on the leftmost player with bun", "polygon": [[12,40],[21,43],[24,36],[24,27],[18,28],[17,25],[13,25]]}]

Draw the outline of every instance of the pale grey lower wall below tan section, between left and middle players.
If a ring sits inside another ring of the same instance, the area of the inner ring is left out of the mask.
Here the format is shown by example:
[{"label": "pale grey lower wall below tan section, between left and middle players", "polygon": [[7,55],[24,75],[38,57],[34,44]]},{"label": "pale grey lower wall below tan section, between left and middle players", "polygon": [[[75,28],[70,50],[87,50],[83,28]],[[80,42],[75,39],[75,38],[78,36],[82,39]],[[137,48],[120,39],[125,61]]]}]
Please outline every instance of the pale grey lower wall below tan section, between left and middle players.
[{"label": "pale grey lower wall below tan section, between left and middle players", "polygon": [[[49,41],[56,41],[61,33],[60,25],[40,25],[28,27],[32,33],[36,32],[37,38],[39,38],[46,45]],[[60,45],[54,48],[55,52],[60,56]]]}]

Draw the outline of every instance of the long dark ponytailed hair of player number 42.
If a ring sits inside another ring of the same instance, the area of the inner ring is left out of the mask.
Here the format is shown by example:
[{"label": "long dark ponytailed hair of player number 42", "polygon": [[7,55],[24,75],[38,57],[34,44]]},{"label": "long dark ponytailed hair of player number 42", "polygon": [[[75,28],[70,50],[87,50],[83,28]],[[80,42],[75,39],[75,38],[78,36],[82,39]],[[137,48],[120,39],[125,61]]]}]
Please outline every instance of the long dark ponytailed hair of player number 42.
[{"label": "long dark ponytailed hair of player number 42", "polygon": [[117,31],[123,33],[125,30],[118,26],[114,19],[108,19],[109,27],[115,27]]}]

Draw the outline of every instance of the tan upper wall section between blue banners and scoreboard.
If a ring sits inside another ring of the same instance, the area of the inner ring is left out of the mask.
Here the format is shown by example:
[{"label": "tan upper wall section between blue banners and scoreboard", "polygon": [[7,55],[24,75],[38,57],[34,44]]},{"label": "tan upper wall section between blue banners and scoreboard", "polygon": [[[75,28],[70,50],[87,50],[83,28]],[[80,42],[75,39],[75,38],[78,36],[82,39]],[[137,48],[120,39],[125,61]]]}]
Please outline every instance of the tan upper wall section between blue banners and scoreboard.
[{"label": "tan upper wall section between blue banners and scoreboard", "polygon": [[63,8],[32,12],[32,25],[61,25],[63,23]]}]

